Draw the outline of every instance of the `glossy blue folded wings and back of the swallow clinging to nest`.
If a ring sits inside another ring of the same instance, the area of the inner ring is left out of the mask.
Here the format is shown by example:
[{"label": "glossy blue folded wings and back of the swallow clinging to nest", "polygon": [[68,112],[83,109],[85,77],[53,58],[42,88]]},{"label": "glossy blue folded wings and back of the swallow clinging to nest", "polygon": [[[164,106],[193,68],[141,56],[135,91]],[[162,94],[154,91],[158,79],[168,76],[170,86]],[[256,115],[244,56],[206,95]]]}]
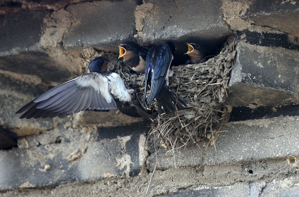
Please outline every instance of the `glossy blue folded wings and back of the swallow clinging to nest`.
[{"label": "glossy blue folded wings and back of the swallow clinging to nest", "polygon": [[[152,100],[160,92],[162,86],[164,85],[165,77],[167,76],[167,71],[169,69],[170,63],[172,61],[172,54],[170,47],[167,43],[162,43],[158,47],[151,49],[147,55],[146,65],[149,65],[150,69],[147,70],[151,72],[151,89],[149,93],[149,98],[147,103],[151,103]],[[148,68],[146,66],[146,68]],[[147,72],[146,71],[146,72]]]}]

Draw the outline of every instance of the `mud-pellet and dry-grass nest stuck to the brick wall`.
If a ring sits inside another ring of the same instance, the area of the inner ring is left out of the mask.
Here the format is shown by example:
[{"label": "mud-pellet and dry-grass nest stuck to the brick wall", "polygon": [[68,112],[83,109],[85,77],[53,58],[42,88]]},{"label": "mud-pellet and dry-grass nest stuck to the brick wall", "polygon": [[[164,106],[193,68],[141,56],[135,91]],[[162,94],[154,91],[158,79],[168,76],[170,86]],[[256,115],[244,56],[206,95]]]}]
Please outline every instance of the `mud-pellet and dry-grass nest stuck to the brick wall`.
[{"label": "mud-pellet and dry-grass nest stuck to the brick wall", "polygon": [[[157,117],[150,131],[155,141],[158,140],[173,153],[187,145],[198,145],[200,141],[209,141],[210,145],[215,146],[215,140],[226,120],[227,111],[222,103],[227,97],[226,87],[236,55],[234,45],[234,42],[227,44],[219,55],[204,63],[172,67],[170,90],[183,99],[188,107],[169,115],[158,116],[156,102],[142,106],[144,75],[138,75],[127,66],[122,66],[120,60],[112,60],[108,69],[118,73],[128,89],[135,90],[132,95],[135,105],[151,111],[153,117]],[[96,51],[88,51],[86,54],[82,54],[86,66],[89,59],[102,55]]]}]

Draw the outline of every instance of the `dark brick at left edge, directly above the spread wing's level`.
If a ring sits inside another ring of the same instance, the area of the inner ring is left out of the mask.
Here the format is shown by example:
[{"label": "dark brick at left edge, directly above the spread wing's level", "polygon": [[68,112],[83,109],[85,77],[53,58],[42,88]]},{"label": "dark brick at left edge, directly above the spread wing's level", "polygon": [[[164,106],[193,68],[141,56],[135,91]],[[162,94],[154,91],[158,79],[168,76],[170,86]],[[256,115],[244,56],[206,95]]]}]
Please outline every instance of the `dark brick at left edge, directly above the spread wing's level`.
[{"label": "dark brick at left edge, directly above the spread wing's level", "polygon": [[[36,75],[44,81],[55,82],[63,82],[78,74],[79,68],[75,67],[78,66],[76,60],[71,62],[72,59],[65,58],[63,50],[58,55],[55,52],[59,50],[48,51],[42,46],[42,34],[49,33],[46,31],[45,22],[49,18],[50,12],[47,10],[0,16],[0,29],[3,30],[0,32],[0,69]],[[47,39],[55,39],[51,36],[57,36],[56,33],[61,31],[60,29],[62,28],[52,28],[51,35],[48,35]]]}]

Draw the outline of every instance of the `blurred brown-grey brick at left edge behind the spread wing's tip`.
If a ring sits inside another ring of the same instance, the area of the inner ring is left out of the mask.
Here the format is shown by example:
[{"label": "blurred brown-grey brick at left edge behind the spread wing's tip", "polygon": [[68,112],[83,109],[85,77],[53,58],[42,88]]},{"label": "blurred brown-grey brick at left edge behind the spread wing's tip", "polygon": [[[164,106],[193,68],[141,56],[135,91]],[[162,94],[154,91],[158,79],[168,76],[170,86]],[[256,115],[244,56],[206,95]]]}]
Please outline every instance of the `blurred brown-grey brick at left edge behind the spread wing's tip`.
[{"label": "blurred brown-grey brick at left edge behind the spread wing's tip", "polygon": [[58,118],[26,120],[19,119],[21,114],[16,114],[22,106],[48,89],[48,85],[38,77],[0,71],[0,106],[5,109],[0,112],[1,127],[14,132],[16,136],[26,136],[47,131],[58,122],[65,121]]}]

